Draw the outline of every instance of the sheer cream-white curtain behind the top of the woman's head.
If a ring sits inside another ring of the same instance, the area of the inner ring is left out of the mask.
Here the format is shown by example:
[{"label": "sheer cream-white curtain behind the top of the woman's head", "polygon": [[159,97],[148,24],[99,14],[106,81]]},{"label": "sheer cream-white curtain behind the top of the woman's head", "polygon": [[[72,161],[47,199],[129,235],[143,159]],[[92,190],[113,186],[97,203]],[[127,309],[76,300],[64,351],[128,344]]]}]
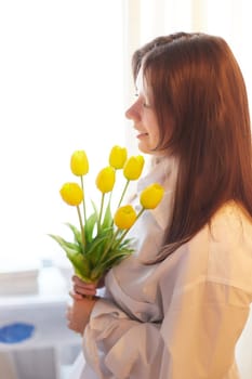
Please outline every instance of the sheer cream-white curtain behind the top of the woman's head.
[{"label": "sheer cream-white curtain behind the top of the woman's head", "polygon": [[[252,106],[250,0],[129,0],[127,54],[141,44],[174,31],[203,31],[226,39],[242,69]],[[130,87],[131,86],[131,87]],[[133,84],[128,86],[128,101]]]}]

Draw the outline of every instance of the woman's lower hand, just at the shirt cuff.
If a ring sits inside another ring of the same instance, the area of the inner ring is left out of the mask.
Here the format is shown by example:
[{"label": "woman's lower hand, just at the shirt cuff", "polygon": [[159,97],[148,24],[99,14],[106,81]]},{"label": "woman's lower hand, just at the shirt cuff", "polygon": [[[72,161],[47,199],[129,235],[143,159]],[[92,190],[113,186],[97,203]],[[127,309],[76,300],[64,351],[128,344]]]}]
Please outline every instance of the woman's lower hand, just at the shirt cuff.
[{"label": "woman's lower hand, just at the shirt cuff", "polygon": [[91,312],[94,308],[97,298],[81,298],[75,299],[71,306],[68,306],[66,318],[68,319],[68,328],[75,330],[81,335],[84,332],[84,328],[90,321]]}]

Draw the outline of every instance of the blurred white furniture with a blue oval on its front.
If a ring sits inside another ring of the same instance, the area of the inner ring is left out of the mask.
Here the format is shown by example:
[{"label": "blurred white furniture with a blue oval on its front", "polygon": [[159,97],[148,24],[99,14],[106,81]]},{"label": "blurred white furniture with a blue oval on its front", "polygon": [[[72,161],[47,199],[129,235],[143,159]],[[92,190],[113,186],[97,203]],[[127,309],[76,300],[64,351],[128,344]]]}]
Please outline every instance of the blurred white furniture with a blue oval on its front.
[{"label": "blurred white furniture with a blue oval on its front", "polygon": [[39,274],[38,293],[0,297],[0,326],[35,325],[31,338],[0,343],[0,373],[9,375],[3,379],[65,379],[65,364],[72,363],[81,343],[80,336],[67,328],[68,288],[61,272],[48,267]]}]

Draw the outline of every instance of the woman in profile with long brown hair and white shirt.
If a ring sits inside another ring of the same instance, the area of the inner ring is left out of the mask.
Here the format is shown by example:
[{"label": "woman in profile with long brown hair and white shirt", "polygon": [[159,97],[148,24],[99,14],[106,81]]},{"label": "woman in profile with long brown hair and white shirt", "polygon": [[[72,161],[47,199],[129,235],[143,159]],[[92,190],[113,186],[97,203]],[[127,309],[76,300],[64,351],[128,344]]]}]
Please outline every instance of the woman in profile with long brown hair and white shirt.
[{"label": "woman in profile with long brown hair and white shirt", "polygon": [[[237,379],[236,342],[252,301],[252,155],[246,86],[220,37],[178,32],[133,55],[125,115],[154,167],[138,191],[165,196],[132,228],[135,252],[104,298],[74,277],[69,328],[81,378]],[[79,293],[79,295],[78,295]]]}]

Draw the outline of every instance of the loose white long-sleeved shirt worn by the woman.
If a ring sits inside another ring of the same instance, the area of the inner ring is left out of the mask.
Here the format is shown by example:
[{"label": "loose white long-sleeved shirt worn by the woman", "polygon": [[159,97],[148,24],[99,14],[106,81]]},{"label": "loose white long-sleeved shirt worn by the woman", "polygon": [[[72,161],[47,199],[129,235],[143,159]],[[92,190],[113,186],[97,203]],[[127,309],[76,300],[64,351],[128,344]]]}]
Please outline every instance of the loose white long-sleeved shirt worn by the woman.
[{"label": "loose white long-sleeved shirt worn by the woman", "polygon": [[172,205],[174,166],[168,180],[163,172],[162,164],[140,182],[141,188],[159,180],[167,193],[137,220],[135,253],[106,276],[106,299],[96,302],[84,332],[81,378],[239,378],[235,347],[252,302],[251,219],[230,201],[191,240],[146,265]]}]

